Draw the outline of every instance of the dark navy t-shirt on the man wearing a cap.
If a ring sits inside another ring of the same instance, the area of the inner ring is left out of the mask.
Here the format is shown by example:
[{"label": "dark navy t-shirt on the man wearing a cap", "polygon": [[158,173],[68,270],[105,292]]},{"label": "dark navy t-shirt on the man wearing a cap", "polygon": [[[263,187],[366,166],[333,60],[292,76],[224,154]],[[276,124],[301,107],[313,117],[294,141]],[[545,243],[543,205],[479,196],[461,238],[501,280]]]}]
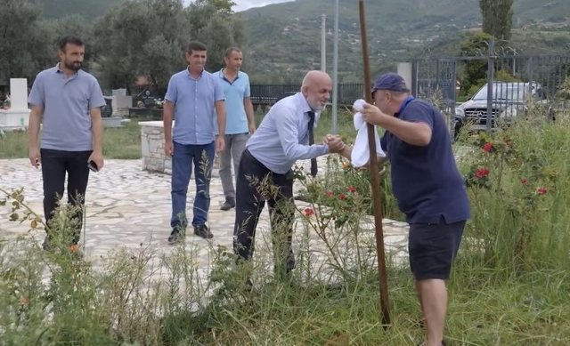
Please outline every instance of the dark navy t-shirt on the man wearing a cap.
[{"label": "dark navy t-shirt on the man wearing a cap", "polygon": [[382,137],[392,171],[392,189],[409,223],[446,223],[469,218],[465,183],[455,164],[447,126],[441,112],[426,101],[408,97],[394,117],[431,128],[425,147],[408,144],[394,134]]}]

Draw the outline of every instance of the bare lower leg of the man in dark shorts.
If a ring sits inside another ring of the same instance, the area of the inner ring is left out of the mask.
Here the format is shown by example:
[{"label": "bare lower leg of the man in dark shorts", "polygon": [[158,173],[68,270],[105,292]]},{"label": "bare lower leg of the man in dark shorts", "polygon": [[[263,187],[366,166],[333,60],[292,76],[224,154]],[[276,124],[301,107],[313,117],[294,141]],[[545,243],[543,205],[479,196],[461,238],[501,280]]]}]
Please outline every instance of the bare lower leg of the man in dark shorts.
[{"label": "bare lower leg of the man in dark shorts", "polygon": [[444,340],[447,288],[441,279],[416,281],[421,310],[428,329],[428,346],[440,346]]}]

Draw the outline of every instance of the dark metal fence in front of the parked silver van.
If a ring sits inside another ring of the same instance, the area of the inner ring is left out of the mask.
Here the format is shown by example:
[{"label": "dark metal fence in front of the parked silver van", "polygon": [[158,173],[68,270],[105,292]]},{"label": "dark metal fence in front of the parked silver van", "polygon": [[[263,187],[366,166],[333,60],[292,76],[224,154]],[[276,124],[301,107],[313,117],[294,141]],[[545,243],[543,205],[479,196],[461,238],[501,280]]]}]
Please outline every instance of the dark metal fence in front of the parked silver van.
[{"label": "dark metal fence in front of the parked silver van", "polygon": [[[570,54],[499,55],[493,48],[490,52],[486,56],[412,60],[411,92],[422,99],[439,100],[440,108],[452,121],[463,117],[476,129],[486,130],[491,130],[499,118],[520,113],[529,100],[544,105],[544,114],[551,118],[570,106],[555,101],[570,75]],[[467,70],[482,76],[478,84],[462,80]],[[457,107],[459,92],[469,101]]]}]

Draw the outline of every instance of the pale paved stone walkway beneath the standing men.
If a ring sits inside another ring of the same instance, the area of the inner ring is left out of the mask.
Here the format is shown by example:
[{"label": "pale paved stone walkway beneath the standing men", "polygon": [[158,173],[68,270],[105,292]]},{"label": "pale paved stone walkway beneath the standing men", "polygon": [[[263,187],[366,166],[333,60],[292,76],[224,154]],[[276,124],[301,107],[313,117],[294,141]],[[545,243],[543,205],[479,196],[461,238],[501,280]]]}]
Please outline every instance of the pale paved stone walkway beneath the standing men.
[{"label": "pale paved stone walkway beneath the standing men", "polygon": [[[82,235],[82,242],[85,239],[83,249],[87,258],[96,260],[105,256],[110,250],[120,247],[127,249],[151,247],[157,253],[172,251],[173,246],[167,244],[170,233],[170,176],[145,172],[141,167],[141,160],[108,159],[102,172],[91,173],[86,192],[86,229],[85,235]],[[187,208],[189,220],[194,192],[192,182]],[[24,188],[28,205],[37,213],[42,213],[41,172],[29,165],[28,159],[0,160],[0,188],[21,187]],[[224,202],[224,195],[216,171],[213,173],[210,196],[209,226],[214,238],[208,242],[195,237],[191,231],[186,237],[187,245],[197,245],[199,248],[199,266],[205,270],[208,270],[211,264],[210,253],[216,245],[232,248],[234,210],[227,212],[219,210]],[[307,205],[304,202],[296,203],[299,208]],[[0,206],[0,237],[10,238],[28,232],[27,222],[20,224],[9,221],[9,214],[8,206]],[[265,210],[257,227],[256,253],[269,251],[268,217],[269,214]],[[374,227],[371,221],[362,223],[364,224],[362,237],[373,242]],[[302,224],[303,222],[297,222],[297,233],[294,237],[296,247],[299,246]],[[395,253],[395,259],[398,261],[406,259],[407,224],[390,220],[385,220],[383,224],[387,251]],[[311,242],[317,247],[322,247],[321,239],[312,233]],[[44,233],[37,231],[33,233],[33,237],[41,243]]]}]

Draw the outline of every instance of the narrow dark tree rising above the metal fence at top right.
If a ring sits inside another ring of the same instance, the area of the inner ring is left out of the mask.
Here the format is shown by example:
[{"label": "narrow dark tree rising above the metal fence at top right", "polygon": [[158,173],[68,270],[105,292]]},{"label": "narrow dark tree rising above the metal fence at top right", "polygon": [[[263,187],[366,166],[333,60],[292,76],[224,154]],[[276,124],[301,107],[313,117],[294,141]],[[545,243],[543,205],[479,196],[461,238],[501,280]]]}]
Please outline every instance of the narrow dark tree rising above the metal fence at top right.
[{"label": "narrow dark tree rising above the metal fence at top right", "polygon": [[513,26],[513,0],[479,0],[483,31],[500,40],[510,39]]}]

